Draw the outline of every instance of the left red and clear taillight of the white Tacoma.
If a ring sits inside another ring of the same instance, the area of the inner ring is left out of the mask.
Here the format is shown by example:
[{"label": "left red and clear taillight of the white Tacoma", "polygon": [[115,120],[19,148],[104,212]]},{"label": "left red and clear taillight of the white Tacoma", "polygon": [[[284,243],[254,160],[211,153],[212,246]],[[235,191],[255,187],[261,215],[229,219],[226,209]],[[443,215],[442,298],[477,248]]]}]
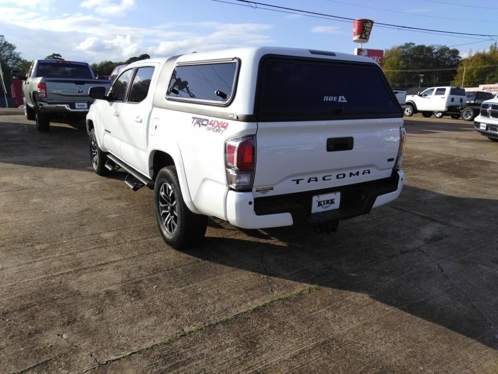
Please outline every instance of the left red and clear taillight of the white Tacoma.
[{"label": "left red and clear taillight of the white Tacoma", "polygon": [[230,187],[250,189],[256,166],[256,138],[254,135],[229,139],[225,142],[225,166]]}]

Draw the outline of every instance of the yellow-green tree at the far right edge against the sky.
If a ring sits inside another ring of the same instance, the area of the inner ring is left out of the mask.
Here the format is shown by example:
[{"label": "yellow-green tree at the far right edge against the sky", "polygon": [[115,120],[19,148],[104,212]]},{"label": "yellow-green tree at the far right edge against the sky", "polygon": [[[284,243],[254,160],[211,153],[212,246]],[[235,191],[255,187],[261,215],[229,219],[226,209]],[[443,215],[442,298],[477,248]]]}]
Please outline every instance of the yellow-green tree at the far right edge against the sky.
[{"label": "yellow-green tree at the far right edge against the sky", "polygon": [[454,79],[455,85],[464,87],[476,87],[480,84],[491,83],[498,83],[497,42],[491,45],[489,51],[475,54],[471,52],[469,57],[464,58]]}]

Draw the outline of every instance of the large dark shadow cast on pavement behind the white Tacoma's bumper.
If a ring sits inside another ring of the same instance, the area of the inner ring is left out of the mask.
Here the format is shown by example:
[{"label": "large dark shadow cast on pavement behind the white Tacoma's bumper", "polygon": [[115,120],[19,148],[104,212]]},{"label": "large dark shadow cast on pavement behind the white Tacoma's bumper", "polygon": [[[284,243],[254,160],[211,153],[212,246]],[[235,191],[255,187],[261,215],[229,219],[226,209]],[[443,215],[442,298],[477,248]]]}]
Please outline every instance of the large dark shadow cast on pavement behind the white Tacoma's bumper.
[{"label": "large dark shadow cast on pavement behind the white Tacoma's bumper", "polygon": [[[214,237],[185,253],[269,277],[368,294],[498,349],[498,240],[488,228],[483,231],[490,235],[477,230],[497,226],[498,202],[434,192],[427,198],[427,192],[405,187],[404,199],[344,221],[336,234],[294,227],[242,230],[284,246]],[[447,219],[457,206],[462,210]]]}]

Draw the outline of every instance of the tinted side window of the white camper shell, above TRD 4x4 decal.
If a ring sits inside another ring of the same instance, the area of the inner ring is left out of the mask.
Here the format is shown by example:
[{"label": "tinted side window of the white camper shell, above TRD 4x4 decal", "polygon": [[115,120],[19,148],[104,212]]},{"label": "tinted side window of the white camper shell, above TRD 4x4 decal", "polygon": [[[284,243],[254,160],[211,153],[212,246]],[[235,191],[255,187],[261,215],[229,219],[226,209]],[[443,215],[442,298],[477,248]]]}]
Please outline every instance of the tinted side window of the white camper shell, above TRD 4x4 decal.
[{"label": "tinted side window of the white camper shell, above TRD 4x4 decal", "polygon": [[232,97],[236,71],[236,62],[177,66],[166,97],[226,103]]}]

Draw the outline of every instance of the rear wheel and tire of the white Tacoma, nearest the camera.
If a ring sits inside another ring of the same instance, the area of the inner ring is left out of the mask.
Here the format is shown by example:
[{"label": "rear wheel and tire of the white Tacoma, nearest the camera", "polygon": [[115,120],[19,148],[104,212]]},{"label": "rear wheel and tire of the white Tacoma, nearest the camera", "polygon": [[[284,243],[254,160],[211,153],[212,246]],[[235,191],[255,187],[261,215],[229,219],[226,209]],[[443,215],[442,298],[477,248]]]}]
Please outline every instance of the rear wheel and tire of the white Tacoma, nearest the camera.
[{"label": "rear wheel and tire of the white Tacoma, nearest the camera", "polygon": [[188,248],[204,238],[208,217],[195,214],[187,207],[173,166],[162,168],[157,174],[154,210],[161,236],[171,247]]}]

